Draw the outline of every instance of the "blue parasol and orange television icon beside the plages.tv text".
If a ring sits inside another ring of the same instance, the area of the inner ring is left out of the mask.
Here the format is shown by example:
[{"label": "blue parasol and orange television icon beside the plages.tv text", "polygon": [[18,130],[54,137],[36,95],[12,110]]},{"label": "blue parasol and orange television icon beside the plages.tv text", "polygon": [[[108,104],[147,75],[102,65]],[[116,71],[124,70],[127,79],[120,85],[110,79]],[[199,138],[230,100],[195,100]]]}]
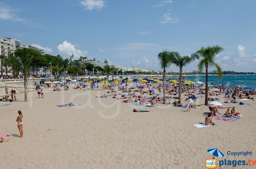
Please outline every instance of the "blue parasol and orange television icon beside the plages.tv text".
[{"label": "blue parasol and orange television icon beside the plages.tv text", "polygon": [[212,158],[208,158],[205,160],[205,166],[207,169],[215,169],[218,166],[218,161],[215,159],[215,157],[223,157],[224,154],[217,148],[207,149],[207,152],[209,152],[213,156]]}]

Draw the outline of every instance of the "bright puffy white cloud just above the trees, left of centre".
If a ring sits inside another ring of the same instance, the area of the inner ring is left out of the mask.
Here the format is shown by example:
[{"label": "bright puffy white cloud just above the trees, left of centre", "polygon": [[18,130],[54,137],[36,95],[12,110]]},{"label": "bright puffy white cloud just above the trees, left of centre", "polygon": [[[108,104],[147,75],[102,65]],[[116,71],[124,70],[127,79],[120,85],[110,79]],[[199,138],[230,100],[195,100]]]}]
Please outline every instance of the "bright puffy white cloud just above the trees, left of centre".
[{"label": "bright puffy white cloud just above the trees, left of centre", "polygon": [[86,56],[87,51],[81,51],[80,49],[76,49],[76,45],[73,45],[72,43],[67,42],[65,40],[62,44],[59,44],[57,46],[58,52],[63,55],[63,57],[70,57],[72,54],[74,54],[75,58],[78,58],[80,56]]}]

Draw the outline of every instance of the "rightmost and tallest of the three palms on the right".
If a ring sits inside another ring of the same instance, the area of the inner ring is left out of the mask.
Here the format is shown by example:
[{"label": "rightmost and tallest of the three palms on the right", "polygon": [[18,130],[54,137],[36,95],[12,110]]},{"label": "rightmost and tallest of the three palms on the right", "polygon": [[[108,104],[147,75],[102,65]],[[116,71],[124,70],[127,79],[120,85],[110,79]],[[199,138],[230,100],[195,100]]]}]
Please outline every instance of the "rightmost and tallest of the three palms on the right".
[{"label": "rightmost and tallest of the three palms on the right", "polygon": [[221,46],[207,46],[207,48],[202,47],[196,52],[201,57],[201,60],[198,63],[198,71],[203,72],[205,67],[205,102],[204,104],[208,106],[208,68],[215,67],[217,69],[218,78],[221,78],[223,75],[222,69],[214,62],[215,55],[224,51],[224,48]]}]

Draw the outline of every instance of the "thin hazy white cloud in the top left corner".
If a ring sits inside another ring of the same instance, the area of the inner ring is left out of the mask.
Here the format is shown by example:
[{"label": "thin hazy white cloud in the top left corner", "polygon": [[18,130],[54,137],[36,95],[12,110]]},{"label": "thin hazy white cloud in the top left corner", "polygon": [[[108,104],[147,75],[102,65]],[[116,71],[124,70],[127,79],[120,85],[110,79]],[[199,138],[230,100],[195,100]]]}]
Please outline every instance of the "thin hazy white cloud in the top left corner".
[{"label": "thin hazy white cloud in the top left corner", "polygon": [[3,20],[13,20],[13,21],[23,21],[22,18],[16,16],[17,10],[11,6],[5,5],[0,2],[0,19]]}]

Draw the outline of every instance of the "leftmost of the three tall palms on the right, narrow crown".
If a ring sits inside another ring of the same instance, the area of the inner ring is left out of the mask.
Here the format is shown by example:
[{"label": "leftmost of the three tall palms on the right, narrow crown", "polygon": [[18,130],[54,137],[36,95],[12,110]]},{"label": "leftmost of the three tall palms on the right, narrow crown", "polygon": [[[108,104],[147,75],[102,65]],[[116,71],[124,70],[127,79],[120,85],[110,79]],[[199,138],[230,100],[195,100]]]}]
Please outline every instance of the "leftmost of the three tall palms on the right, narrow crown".
[{"label": "leftmost of the three tall palms on the right, narrow crown", "polygon": [[171,55],[163,49],[158,55],[160,66],[163,69],[163,104],[166,103],[166,69],[171,65]]}]

